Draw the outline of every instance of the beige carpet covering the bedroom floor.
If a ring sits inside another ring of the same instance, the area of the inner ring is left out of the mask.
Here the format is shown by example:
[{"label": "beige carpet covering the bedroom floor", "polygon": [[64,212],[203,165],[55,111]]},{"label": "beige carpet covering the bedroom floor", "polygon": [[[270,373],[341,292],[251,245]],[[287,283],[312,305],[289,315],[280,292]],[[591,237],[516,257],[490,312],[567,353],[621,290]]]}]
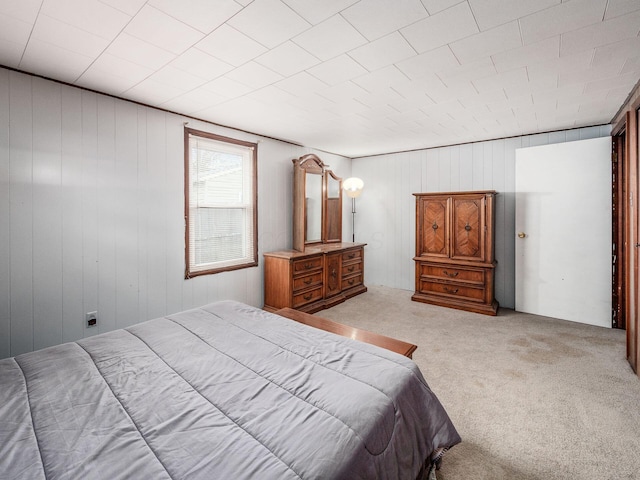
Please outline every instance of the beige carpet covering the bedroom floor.
[{"label": "beige carpet covering the bedroom floor", "polygon": [[369,286],[316,315],[418,345],[413,359],[462,437],[439,480],[640,479],[640,379],[624,331],[412,293]]}]

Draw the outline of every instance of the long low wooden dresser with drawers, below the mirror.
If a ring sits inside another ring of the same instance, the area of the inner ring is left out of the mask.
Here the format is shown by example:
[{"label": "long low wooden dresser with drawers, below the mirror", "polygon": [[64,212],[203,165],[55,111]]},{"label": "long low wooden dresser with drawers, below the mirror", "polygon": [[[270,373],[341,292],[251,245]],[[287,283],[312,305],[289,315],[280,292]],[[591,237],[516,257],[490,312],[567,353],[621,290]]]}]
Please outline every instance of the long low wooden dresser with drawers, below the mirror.
[{"label": "long low wooden dresser with drawers, below the mirror", "polygon": [[366,292],[364,243],[325,243],[264,254],[264,309],[317,312]]}]

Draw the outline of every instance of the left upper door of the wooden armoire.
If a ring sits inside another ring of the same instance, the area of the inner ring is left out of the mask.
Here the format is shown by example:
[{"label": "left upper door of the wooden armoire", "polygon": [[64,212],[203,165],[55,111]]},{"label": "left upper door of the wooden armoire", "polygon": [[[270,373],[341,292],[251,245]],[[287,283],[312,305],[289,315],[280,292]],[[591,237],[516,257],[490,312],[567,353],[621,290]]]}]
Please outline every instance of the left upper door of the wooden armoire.
[{"label": "left upper door of the wooden armoire", "polygon": [[[420,199],[417,256],[449,256],[449,197],[428,197]],[[420,215],[422,212],[422,215]]]}]

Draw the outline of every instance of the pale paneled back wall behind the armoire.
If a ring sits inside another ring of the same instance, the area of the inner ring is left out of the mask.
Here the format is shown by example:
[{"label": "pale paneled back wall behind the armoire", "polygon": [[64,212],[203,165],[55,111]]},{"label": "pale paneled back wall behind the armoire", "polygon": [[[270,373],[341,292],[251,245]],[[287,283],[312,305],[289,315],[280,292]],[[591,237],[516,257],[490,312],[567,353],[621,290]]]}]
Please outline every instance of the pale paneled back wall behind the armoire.
[{"label": "pale paneled back wall behind the armoire", "polygon": [[[518,148],[608,136],[609,125],[451,147],[357,158],[364,180],[356,241],[368,244],[365,284],[414,290],[418,192],[496,190],[496,298],[515,306],[515,152]],[[345,231],[345,235],[351,228]]]}]

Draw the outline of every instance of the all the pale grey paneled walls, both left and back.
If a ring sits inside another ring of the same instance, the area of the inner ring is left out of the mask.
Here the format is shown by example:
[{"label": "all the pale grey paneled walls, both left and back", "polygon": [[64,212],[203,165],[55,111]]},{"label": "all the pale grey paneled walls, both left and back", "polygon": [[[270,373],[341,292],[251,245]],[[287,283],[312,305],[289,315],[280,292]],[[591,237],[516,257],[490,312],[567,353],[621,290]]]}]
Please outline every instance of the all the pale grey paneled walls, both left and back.
[{"label": "all the pale grey paneled walls, both left and back", "polygon": [[[257,268],[184,280],[183,126],[258,143]],[[262,253],[291,247],[293,158],[365,181],[365,281],[413,290],[414,192],[496,189],[497,298],[514,305],[515,149],[609,127],[351,161],[0,68],[0,358],[220,299],[263,304]],[[351,238],[351,202],[343,204]],[[84,326],[98,311],[98,327]]]}]

